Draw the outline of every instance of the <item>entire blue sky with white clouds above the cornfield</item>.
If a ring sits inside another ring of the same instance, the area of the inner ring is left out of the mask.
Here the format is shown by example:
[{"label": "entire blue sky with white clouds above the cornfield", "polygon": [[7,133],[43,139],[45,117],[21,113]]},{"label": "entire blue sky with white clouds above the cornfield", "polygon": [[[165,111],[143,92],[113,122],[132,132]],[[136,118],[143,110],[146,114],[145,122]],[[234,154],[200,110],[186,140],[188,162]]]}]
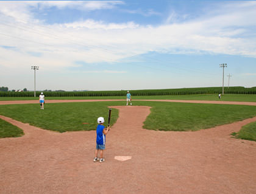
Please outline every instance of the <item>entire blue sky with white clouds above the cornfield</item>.
[{"label": "entire blue sky with white clouds above the cornfield", "polygon": [[256,86],[256,1],[0,1],[0,86]]}]

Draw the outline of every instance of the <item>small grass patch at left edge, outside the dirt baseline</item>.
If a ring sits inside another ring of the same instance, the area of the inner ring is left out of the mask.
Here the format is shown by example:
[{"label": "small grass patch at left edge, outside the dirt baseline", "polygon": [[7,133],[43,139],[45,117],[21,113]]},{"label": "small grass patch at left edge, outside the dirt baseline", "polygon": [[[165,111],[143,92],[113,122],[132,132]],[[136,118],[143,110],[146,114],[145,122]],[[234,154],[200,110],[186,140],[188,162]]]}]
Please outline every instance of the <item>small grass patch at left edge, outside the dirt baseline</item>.
[{"label": "small grass patch at left edge, outside the dirt baseline", "polygon": [[20,128],[0,119],[0,138],[4,137],[21,137],[23,136],[23,130]]}]

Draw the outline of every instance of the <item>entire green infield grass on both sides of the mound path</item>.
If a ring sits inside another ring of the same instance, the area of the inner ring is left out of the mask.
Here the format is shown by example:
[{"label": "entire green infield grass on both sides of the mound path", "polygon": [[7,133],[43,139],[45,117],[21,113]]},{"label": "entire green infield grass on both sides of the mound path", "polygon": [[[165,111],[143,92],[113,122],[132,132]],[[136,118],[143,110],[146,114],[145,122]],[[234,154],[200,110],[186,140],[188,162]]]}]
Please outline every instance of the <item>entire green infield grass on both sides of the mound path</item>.
[{"label": "entire green infield grass on both sides of the mound path", "polygon": [[[1,105],[0,114],[46,130],[88,131],[95,130],[98,117],[107,120],[108,106],[125,103],[46,103],[44,110],[37,104]],[[149,130],[197,131],[256,116],[255,106],[170,102],[133,102],[133,105],[152,107],[143,126]],[[118,110],[113,109],[112,125],[117,118]]]}]

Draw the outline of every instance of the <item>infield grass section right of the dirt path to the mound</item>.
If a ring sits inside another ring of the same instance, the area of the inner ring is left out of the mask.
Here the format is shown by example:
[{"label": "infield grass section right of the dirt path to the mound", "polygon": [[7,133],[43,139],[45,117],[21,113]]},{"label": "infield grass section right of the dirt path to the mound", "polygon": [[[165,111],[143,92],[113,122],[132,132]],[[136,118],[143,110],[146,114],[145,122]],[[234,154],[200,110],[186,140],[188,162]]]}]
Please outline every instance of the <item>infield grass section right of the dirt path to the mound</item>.
[{"label": "infield grass section right of the dirt path to the mound", "polygon": [[162,131],[197,131],[256,116],[255,106],[195,103],[153,103],[144,128]]}]

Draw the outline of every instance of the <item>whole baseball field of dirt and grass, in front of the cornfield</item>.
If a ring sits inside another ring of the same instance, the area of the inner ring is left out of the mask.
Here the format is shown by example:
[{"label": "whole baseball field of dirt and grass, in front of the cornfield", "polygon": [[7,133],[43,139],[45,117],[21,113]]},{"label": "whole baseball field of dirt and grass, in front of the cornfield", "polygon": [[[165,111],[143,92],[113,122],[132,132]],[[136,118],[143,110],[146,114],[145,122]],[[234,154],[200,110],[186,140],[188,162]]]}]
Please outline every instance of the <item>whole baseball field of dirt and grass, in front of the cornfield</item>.
[{"label": "whole baseball field of dirt and grass, in front of the cornfield", "polygon": [[[255,193],[255,99],[51,97],[41,110],[1,98],[0,193]],[[94,163],[110,107],[105,162]]]}]

